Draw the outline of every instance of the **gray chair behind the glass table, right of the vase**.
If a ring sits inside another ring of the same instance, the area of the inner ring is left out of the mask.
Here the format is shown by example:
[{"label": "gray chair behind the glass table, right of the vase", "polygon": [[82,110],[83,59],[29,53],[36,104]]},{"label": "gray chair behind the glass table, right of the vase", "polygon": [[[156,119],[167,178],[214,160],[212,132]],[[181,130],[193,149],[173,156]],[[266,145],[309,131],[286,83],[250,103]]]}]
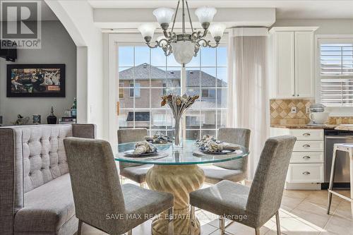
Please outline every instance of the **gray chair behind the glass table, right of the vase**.
[{"label": "gray chair behind the glass table, right of the vase", "polygon": [[[220,128],[217,140],[243,145],[249,148],[250,130],[245,128]],[[248,167],[248,157],[228,162],[217,162],[213,165],[217,168],[203,168],[205,172],[205,182],[218,183],[225,179],[233,182],[244,182]]]}]

